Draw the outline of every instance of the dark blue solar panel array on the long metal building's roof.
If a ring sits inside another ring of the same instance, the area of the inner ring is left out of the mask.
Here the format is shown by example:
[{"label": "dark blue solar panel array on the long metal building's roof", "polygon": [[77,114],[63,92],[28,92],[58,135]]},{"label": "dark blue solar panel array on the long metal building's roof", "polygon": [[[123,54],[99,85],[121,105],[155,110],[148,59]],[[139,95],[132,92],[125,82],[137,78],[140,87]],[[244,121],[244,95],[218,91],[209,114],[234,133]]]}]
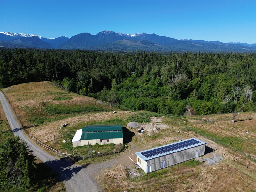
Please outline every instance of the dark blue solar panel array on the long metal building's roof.
[{"label": "dark blue solar panel array on the long metal building's roof", "polygon": [[177,149],[181,149],[183,147],[188,147],[190,145],[194,145],[194,144],[198,144],[200,143],[200,141],[197,141],[195,139],[190,139],[190,140],[187,140],[187,141],[182,141],[180,143],[174,143],[174,144],[170,144],[168,146],[165,146],[165,147],[160,147],[160,148],[157,148],[157,149],[152,149],[152,150],[149,150],[149,151],[146,151],[146,152],[142,152],[141,154],[144,156],[144,157],[152,157],[154,155],[159,155],[159,154],[162,154],[162,153],[166,153],[166,152],[170,152],[170,151],[174,151],[174,150],[177,150]]}]

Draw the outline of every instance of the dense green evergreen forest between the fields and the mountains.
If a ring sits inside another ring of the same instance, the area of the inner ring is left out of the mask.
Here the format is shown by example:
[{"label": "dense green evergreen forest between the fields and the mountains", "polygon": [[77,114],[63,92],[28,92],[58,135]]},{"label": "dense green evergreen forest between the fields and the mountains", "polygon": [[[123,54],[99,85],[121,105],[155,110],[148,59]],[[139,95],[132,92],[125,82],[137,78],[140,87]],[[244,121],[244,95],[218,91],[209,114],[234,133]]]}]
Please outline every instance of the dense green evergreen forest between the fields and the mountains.
[{"label": "dense green evergreen forest between the fields and the mountains", "polygon": [[122,110],[207,115],[243,104],[243,111],[256,110],[256,53],[0,50],[0,88],[35,81],[112,100]]}]

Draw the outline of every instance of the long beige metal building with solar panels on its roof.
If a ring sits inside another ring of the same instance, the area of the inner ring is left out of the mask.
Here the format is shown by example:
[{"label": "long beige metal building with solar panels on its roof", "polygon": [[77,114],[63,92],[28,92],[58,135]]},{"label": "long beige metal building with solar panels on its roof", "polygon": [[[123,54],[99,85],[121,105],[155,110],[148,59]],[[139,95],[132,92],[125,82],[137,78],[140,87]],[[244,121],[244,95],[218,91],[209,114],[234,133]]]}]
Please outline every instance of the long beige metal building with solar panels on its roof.
[{"label": "long beige metal building with solar panels on its roof", "polygon": [[137,164],[145,173],[204,155],[205,142],[195,138],[136,152]]}]

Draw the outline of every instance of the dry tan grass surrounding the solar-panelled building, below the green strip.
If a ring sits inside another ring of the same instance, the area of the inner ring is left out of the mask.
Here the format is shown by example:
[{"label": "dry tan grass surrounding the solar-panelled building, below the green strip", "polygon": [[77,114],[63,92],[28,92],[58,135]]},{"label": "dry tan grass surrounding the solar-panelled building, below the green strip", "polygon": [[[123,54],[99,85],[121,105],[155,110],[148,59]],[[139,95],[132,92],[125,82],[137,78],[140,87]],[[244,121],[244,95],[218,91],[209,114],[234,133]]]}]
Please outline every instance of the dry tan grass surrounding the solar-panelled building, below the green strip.
[{"label": "dry tan grass surrounding the solar-panelled building, below the green strip", "polygon": [[[201,136],[198,138],[207,142],[211,148],[217,149],[215,152],[225,154],[224,160],[216,165],[205,163],[193,165],[192,161],[195,160],[190,160],[131,179],[127,176],[127,169],[123,167],[127,162],[123,162],[125,157],[122,155],[118,159],[121,165],[102,170],[97,179],[106,191],[253,191],[255,189],[255,162],[206,138]],[[150,148],[150,144],[148,145],[147,148]],[[132,147],[131,151],[135,152],[138,149]],[[130,153],[126,154],[127,159]],[[131,160],[129,161],[132,163]],[[246,168],[248,165],[250,166]]]}]

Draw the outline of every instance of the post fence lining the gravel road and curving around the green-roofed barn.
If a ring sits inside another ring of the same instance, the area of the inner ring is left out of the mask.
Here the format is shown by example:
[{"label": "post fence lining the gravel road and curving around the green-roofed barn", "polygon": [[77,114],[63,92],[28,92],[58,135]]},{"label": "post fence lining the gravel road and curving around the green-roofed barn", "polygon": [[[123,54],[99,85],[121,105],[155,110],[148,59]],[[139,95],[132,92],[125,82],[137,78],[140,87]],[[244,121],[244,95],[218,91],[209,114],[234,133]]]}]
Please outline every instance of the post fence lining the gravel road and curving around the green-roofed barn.
[{"label": "post fence lining the gravel road and curving around the green-roofed barn", "polygon": [[[53,136],[53,137],[50,137],[50,138],[46,138],[44,140],[39,140],[38,138],[36,138],[35,136],[33,136],[32,134],[30,134],[23,126],[21,120],[19,119],[18,115],[16,114],[12,104],[10,103],[8,97],[5,95],[5,93],[1,90],[1,92],[3,93],[3,95],[5,96],[5,98],[7,99],[8,103],[10,104],[14,114],[16,115],[17,119],[19,120],[20,124],[21,124],[21,127],[22,129],[24,130],[24,132],[31,138],[33,139],[34,141],[36,141],[40,146],[44,147],[45,149],[47,150],[50,150],[51,152],[54,152],[56,153],[57,155],[61,156],[61,157],[65,157],[65,158],[71,158],[73,160],[80,160],[80,159],[87,159],[87,158],[93,158],[93,157],[96,157],[96,156],[105,156],[105,155],[110,155],[110,154],[115,154],[115,153],[120,153],[124,148],[125,146],[122,144],[120,146],[120,148],[117,148],[117,149],[114,149],[114,150],[111,150],[111,151],[107,151],[107,152],[96,152],[96,154],[90,154],[90,155],[74,155],[73,154],[68,154],[68,153],[63,153],[63,152],[60,152],[59,150],[57,150],[56,148],[53,148],[49,145],[47,145],[46,143],[49,142],[49,141],[54,141],[58,138],[62,138],[62,137],[65,137],[65,136],[71,136],[72,135],[72,132],[69,132],[69,133],[65,133],[65,134],[60,134],[60,135],[57,135],[57,136]],[[74,135],[74,131],[73,131],[73,135]],[[45,140],[46,140],[46,143],[45,143]],[[44,141],[44,142],[43,142]]]}]

